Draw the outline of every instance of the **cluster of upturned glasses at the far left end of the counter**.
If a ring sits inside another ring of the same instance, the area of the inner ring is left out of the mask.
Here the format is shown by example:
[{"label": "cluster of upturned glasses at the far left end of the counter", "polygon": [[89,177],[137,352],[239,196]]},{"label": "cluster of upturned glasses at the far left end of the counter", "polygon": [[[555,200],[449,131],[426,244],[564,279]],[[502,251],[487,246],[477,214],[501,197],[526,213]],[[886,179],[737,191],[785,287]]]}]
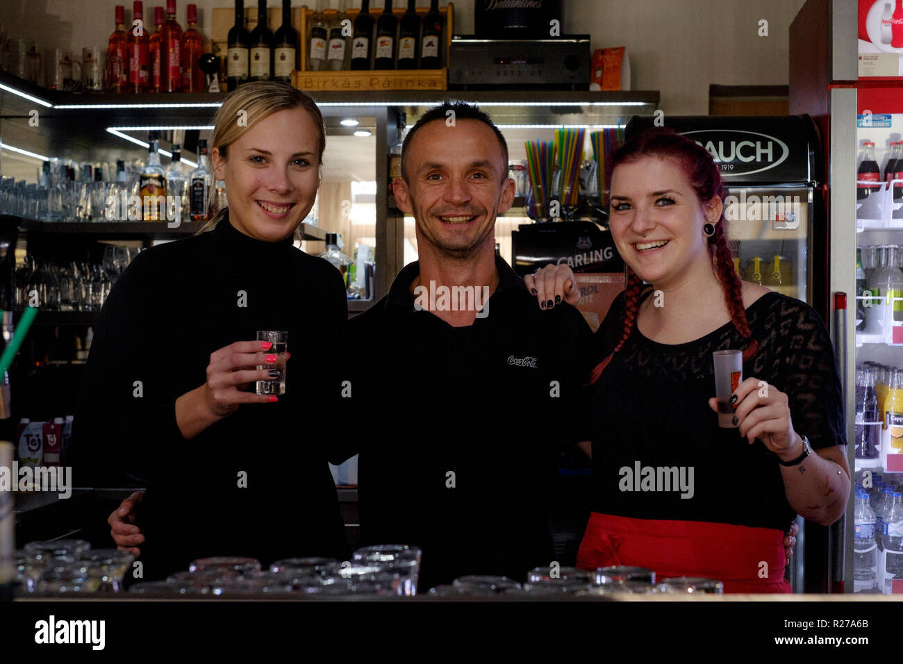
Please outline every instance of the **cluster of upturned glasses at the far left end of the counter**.
[{"label": "cluster of upturned glasses at the far left end of the counter", "polygon": [[135,556],[115,548],[91,549],[83,539],[30,542],[15,552],[17,594],[122,592]]}]

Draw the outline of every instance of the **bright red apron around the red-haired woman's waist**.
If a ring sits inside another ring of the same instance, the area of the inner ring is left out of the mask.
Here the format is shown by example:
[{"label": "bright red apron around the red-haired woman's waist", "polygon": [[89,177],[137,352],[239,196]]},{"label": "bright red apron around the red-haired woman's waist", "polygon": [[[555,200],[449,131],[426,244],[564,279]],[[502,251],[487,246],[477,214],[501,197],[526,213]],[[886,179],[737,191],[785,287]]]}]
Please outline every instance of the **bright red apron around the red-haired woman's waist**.
[{"label": "bright red apron around the red-haired woman's waist", "polygon": [[[760,578],[768,563],[768,575]],[[708,521],[629,519],[592,512],[577,566],[646,567],[659,576],[704,576],[725,593],[789,593],[784,533]]]}]

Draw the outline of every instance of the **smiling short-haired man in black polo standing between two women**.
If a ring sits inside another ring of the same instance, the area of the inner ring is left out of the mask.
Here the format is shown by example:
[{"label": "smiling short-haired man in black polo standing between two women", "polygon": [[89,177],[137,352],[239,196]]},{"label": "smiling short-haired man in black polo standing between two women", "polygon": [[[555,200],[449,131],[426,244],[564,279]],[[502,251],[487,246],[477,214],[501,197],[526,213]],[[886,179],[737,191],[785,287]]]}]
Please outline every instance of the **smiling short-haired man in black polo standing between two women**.
[{"label": "smiling short-haired man in black polo standing between two women", "polygon": [[[589,326],[569,304],[542,311],[495,255],[496,217],[514,190],[488,116],[460,103],[427,112],[394,183],[416,221],[419,260],[349,323],[355,358],[366,359],[354,402],[371,416],[361,538],[423,548],[424,588],[468,574],[523,581],[549,566],[560,452],[586,435],[563,423],[594,361]],[[446,289],[450,305],[416,297],[422,288]],[[468,289],[489,301],[461,295]]]}]

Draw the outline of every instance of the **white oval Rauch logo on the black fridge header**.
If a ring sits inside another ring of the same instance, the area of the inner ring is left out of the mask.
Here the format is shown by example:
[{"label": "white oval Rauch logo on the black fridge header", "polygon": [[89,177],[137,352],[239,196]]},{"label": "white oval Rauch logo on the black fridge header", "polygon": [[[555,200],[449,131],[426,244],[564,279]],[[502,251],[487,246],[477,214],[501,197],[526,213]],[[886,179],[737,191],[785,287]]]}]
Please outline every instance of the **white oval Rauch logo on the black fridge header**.
[{"label": "white oval Rauch logo on the black fridge header", "polygon": [[683,134],[712,154],[721,168],[721,177],[762,173],[783,164],[790,155],[784,141],[754,131],[697,129]]}]

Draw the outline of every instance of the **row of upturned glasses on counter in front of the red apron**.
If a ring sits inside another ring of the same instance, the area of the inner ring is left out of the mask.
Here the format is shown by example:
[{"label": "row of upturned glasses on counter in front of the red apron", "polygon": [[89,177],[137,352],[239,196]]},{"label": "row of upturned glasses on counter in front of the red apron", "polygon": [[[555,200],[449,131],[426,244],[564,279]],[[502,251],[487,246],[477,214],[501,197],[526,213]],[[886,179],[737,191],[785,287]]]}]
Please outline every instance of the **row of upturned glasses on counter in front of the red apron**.
[{"label": "row of upturned glasses on counter in front of the red apron", "polygon": [[436,597],[490,597],[495,595],[610,596],[625,594],[722,594],[724,585],[714,579],[671,576],[656,580],[656,573],[642,567],[612,566],[596,570],[576,567],[536,567],[526,575],[526,584],[507,576],[461,576],[452,585],[440,585],[430,594]]}]

